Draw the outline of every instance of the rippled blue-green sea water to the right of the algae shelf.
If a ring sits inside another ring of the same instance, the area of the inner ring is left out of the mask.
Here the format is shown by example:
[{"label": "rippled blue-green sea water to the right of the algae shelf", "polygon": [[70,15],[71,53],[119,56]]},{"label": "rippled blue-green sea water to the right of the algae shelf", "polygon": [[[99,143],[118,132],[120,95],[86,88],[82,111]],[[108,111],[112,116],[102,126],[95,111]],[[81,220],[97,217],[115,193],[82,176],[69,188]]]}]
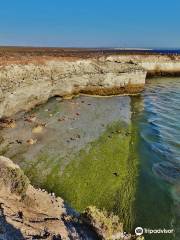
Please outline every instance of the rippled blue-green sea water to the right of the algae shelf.
[{"label": "rippled blue-green sea water to the right of the algae shelf", "polygon": [[180,78],[154,78],[133,99],[139,177],[135,226],[174,229],[146,239],[180,239]]}]

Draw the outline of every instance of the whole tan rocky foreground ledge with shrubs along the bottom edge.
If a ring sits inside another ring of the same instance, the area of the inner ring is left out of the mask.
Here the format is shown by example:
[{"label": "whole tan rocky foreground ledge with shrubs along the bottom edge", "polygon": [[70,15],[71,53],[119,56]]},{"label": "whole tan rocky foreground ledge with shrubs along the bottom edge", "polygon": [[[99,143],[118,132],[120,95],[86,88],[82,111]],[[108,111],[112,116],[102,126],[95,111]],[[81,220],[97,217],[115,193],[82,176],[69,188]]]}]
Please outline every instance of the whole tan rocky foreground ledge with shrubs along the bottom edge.
[{"label": "whole tan rocky foreground ledge with shrubs along the bottom edge", "polygon": [[18,165],[0,156],[0,238],[143,239],[123,232],[117,216],[88,207],[82,214],[60,197],[35,189]]}]

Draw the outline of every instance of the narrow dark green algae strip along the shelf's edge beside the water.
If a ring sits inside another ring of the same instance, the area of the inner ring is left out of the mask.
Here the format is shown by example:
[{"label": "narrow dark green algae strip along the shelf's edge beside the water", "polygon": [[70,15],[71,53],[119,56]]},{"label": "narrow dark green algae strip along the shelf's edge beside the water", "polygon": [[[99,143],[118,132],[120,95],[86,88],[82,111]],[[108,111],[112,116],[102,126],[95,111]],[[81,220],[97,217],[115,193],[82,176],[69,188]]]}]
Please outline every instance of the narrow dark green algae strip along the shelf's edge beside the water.
[{"label": "narrow dark green algae strip along the shelf's edge beside the water", "polygon": [[113,212],[117,214],[124,223],[125,230],[132,231],[135,223],[135,201],[139,178],[139,155],[138,155],[138,128],[133,121],[132,113],[131,138],[129,142],[129,155],[127,159],[127,175],[122,187],[117,191],[117,198]]}]

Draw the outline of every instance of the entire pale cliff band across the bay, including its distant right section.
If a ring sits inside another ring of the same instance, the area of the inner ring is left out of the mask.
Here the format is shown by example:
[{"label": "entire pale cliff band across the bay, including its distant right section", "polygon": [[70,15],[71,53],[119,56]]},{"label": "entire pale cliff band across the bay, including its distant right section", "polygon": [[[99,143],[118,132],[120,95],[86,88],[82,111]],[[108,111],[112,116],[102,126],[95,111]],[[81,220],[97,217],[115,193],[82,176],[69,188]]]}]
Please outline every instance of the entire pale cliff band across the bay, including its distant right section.
[{"label": "entire pale cliff band across the bay, including its distant right section", "polygon": [[0,118],[29,110],[56,95],[137,93],[143,89],[146,75],[158,74],[180,74],[180,57],[111,55],[4,60],[0,65]]}]

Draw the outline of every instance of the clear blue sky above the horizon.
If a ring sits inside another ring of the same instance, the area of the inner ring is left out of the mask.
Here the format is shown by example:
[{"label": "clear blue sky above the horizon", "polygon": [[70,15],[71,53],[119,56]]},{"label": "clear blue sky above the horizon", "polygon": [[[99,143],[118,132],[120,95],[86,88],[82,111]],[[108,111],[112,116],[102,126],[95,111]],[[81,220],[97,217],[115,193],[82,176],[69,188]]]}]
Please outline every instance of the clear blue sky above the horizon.
[{"label": "clear blue sky above the horizon", "polygon": [[0,0],[0,45],[180,48],[180,1]]}]

